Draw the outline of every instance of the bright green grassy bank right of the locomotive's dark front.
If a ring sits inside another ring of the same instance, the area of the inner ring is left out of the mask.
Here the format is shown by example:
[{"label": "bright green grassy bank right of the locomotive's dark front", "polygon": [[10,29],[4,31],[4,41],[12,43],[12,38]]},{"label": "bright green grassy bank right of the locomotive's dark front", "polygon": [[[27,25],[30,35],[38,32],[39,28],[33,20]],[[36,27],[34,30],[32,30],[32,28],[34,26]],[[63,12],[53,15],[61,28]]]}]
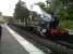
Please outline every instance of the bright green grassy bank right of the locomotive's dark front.
[{"label": "bright green grassy bank right of the locomotive's dark front", "polygon": [[73,21],[60,21],[61,28],[73,29]]}]

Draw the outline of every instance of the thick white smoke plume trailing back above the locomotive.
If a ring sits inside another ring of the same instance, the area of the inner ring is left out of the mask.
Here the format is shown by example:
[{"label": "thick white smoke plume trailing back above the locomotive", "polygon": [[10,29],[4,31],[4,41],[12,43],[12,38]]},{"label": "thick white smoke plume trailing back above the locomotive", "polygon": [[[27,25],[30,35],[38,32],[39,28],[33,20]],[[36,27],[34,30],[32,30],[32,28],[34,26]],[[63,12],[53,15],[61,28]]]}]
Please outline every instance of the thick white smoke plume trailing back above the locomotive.
[{"label": "thick white smoke plume trailing back above the locomotive", "polygon": [[38,15],[40,15],[41,19],[45,21],[45,22],[50,22],[52,19],[52,16],[50,14],[45,12],[39,5],[37,5],[35,3],[28,4],[27,9],[29,11],[35,12]]}]

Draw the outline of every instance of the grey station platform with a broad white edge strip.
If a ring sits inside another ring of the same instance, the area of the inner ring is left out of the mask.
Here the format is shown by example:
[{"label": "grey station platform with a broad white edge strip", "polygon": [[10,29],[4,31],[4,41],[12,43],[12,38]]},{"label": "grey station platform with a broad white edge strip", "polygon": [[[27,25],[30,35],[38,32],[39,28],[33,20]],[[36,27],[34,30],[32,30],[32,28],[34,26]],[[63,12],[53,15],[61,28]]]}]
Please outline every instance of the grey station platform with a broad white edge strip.
[{"label": "grey station platform with a broad white edge strip", "polygon": [[44,52],[13,32],[8,25],[2,25],[0,54],[44,54]]}]

